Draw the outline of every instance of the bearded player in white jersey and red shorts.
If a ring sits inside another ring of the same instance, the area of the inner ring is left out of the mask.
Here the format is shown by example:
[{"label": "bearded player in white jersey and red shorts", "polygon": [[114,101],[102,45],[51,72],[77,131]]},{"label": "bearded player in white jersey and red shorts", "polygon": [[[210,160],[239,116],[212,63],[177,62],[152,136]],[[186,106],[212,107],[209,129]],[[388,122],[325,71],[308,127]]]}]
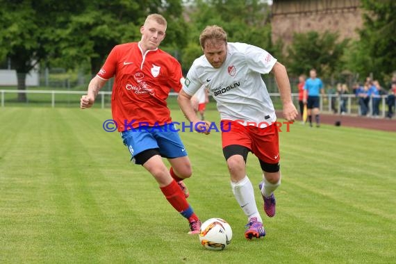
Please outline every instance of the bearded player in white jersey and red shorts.
[{"label": "bearded player in white jersey and red shorts", "polygon": [[231,188],[248,218],[245,238],[261,238],[265,236],[265,229],[245,165],[251,151],[263,170],[263,180],[258,185],[264,211],[273,217],[276,204],[274,190],[281,184],[279,135],[274,106],[261,74],[274,74],[281,94],[283,117],[293,122],[298,113],[292,104],[288,74],[286,68],[267,51],[249,44],[227,42],[226,32],[220,26],[206,26],[199,42],[204,55],[192,64],[178,102],[185,117],[193,122],[194,127],[197,126],[198,131],[203,131],[208,129],[208,122],[199,123],[190,103],[192,94],[204,84],[217,101]]}]

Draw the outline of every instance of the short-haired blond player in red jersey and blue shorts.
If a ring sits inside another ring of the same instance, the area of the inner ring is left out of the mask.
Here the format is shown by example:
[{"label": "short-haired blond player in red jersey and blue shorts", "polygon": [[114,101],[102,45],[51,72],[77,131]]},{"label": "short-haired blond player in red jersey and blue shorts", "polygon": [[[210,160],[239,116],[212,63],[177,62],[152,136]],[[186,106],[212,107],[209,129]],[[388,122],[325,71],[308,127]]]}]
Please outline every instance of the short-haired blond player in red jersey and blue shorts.
[{"label": "short-haired blond player in red jersey and blue shorts", "polygon": [[[186,200],[188,190],[182,181],[191,176],[191,164],[166,102],[171,88],[179,92],[184,79],[179,62],[158,49],[166,28],[162,15],[149,15],[140,28],[140,42],[115,46],[81,97],[81,108],[90,108],[106,81],[115,76],[111,111],[131,160],[154,176],[167,201],[188,219],[188,233],[193,234],[199,233],[201,222]],[[169,160],[170,170],[162,157]]]}]

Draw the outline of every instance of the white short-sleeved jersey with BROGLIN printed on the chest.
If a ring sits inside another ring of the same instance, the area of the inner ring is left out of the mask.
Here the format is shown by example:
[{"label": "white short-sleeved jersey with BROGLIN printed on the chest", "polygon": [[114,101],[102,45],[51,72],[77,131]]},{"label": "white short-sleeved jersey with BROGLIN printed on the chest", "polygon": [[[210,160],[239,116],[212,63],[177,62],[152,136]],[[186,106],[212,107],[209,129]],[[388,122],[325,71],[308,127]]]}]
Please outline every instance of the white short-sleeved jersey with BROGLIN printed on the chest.
[{"label": "white short-sleeved jersey with BROGLIN printed on the chest", "polygon": [[277,120],[261,74],[267,74],[277,59],[267,51],[244,43],[227,44],[226,60],[214,68],[206,57],[197,58],[188,71],[183,90],[193,95],[201,85],[217,101],[221,119],[256,125]]}]

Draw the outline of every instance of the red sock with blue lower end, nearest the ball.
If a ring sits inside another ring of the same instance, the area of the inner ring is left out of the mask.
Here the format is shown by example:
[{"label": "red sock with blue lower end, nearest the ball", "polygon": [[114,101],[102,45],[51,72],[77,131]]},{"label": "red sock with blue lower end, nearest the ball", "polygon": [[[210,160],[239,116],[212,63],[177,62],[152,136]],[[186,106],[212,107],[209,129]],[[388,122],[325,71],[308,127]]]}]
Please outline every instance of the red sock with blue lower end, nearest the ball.
[{"label": "red sock with blue lower end, nearest the ball", "polygon": [[167,201],[172,204],[173,208],[176,209],[185,218],[198,218],[188,201],[185,199],[183,192],[176,181],[172,181],[169,185],[160,188],[165,195]]}]

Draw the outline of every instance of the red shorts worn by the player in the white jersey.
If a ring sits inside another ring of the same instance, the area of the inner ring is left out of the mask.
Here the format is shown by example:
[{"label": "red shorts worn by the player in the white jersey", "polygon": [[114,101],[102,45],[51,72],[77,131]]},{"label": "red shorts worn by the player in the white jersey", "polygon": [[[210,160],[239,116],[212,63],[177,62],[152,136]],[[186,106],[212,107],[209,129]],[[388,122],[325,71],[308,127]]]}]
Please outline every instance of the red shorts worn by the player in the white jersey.
[{"label": "red shorts worn by the player in the white jersey", "polygon": [[279,163],[279,134],[276,124],[261,129],[222,120],[222,145],[223,149],[229,145],[244,146],[265,163]]}]

